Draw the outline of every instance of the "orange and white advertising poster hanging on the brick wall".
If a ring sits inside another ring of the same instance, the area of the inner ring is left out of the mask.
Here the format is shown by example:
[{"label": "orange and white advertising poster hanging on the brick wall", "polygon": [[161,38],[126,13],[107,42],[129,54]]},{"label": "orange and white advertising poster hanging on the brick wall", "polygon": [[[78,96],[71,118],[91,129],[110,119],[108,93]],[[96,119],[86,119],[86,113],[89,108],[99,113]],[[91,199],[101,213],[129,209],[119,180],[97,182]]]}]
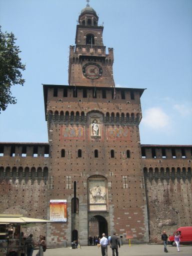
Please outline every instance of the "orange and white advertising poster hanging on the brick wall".
[{"label": "orange and white advertising poster hanging on the brick wall", "polygon": [[66,200],[50,200],[50,220],[66,222]]}]

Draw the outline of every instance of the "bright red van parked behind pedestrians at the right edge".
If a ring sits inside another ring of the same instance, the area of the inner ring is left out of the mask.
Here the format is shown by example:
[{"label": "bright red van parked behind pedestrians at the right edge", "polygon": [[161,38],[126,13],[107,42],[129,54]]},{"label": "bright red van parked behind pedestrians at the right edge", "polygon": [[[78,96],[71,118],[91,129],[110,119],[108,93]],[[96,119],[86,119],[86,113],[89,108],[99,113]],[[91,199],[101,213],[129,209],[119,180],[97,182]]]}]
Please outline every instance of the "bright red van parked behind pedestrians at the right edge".
[{"label": "bright red van parked behind pedestrians at the right edge", "polygon": [[180,244],[192,244],[192,226],[181,226],[176,229],[176,231],[168,237],[168,243],[175,246],[174,235],[176,232],[180,234]]}]

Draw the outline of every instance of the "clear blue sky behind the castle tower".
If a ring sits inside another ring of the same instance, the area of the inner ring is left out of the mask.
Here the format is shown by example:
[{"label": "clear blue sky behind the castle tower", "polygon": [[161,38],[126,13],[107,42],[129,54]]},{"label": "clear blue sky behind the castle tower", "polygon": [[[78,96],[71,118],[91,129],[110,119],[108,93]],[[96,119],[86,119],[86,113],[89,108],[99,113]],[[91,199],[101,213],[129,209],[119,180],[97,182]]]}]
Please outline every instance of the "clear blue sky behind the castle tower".
[{"label": "clear blue sky behind the castle tower", "polygon": [[[17,38],[24,86],[0,114],[0,141],[47,142],[44,84],[68,84],[68,50],[85,0],[0,0],[2,31]],[[116,86],[141,96],[142,144],[192,144],[192,1],[90,0],[114,48]]]}]

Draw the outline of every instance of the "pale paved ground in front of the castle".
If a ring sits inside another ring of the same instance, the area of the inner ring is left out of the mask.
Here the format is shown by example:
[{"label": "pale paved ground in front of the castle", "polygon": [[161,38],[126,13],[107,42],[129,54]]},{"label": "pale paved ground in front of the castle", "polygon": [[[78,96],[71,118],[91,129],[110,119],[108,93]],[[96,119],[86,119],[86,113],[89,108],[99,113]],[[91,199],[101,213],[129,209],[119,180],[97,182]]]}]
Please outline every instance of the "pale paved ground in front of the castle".
[{"label": "pale paved ground in front of the castle", "polygon": [[[139,244],[139,245],[121,245],[118,249],[119,256],[161,256],[161,255],[187,255],[192,256],[191,245],[181,245],[180,251],[177,252],[176,247],[167,245],[168,253],[163,251],[163,245],[159,244]],[[33,252],[33,256],[37,250]],[[80,249],[66,248],[53,248],[47,249],[44,256],[101,256],[100,248],[96,246],[82,246]],[[111,248],[108,246],[108,256],[112,256]]]}]

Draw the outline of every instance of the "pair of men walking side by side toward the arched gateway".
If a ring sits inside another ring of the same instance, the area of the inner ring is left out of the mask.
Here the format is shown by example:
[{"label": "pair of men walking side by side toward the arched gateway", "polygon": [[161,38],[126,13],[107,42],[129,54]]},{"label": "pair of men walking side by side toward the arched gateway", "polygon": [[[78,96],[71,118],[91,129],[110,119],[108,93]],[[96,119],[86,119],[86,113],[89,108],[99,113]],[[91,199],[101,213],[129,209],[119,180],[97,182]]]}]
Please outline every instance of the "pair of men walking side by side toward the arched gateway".
[{"label": "pair of men walking side by side toward the arched gateway", "polygon": [[101,254],[102,256],[107,256],[107,249],[108,244],[110,245],[112,249],[112,256],[114,256],[114,251],[116,253],[116,256],[118,256],[118,247],[120,248],[120,242],[118,238],[115,235],[115,232],[113,232],[112,236],[108,236],[108,238],[105,237],[105,233],[102,234],[102,238],[99,241],[100,247],[101,247]]}]

